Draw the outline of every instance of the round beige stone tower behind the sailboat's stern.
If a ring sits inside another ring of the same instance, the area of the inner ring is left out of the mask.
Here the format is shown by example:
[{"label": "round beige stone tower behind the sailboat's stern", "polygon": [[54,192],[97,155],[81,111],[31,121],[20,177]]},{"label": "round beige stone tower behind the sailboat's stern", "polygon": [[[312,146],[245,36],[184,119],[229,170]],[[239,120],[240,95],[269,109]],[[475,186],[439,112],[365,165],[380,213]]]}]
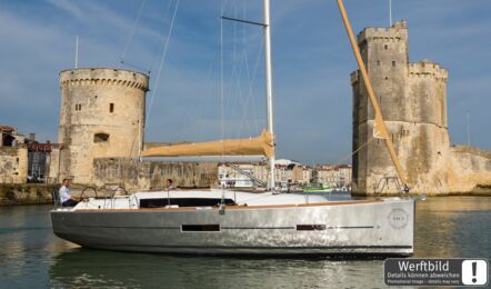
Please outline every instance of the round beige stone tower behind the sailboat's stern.
[{"label": "round beige stone tower behind the sailboat's stern", "polygon": [[137,157],[142,147],[146,74],[81,68],[60,72],[60,178],[92,183],[94,158]]}]

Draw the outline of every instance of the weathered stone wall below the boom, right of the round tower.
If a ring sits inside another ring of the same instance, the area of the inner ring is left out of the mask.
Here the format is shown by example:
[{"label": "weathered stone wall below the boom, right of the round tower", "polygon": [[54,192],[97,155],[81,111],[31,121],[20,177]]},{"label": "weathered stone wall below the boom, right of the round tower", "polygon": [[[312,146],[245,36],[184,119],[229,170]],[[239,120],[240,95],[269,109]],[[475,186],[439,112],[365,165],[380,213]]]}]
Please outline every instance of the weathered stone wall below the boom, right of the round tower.
[{"label": "weathered stone wall below the boom, right of the round tower", "polygon": [[167,179],[181,188],[218,186],[217,162],[138,161],[128,158],[99,158],[93,162],[93,185],[119,185],[128,191],[162,189]]}]

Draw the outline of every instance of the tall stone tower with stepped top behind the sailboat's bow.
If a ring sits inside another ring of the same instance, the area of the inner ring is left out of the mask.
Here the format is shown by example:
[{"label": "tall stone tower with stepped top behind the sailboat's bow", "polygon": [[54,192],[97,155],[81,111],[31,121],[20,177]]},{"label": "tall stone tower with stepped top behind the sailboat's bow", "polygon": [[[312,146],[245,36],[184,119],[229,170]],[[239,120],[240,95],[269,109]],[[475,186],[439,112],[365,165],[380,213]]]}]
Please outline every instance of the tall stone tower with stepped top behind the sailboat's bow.
[{"label": "tall stone tower with stepped top behind the sailboat's bow", "polygon": [[[409,63],[405,21],[365,28],[358,44],[411,192],[445,190],[447,71],[423,60]],[[353,89],[354,195],[399,192],[384,141],[373,139],[374,113],[358,71]]]}]

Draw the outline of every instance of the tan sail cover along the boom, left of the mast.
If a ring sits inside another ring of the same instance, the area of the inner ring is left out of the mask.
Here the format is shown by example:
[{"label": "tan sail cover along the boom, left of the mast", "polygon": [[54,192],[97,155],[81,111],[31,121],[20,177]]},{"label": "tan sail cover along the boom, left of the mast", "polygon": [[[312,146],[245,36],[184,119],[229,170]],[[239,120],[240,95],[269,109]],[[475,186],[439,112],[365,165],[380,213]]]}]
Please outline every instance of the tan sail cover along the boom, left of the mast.
[{"label": "tan sail cover along the boom, left of the mast", "polygon": [[209,142],[192,142],[146,149],[142,157],[189,157],[189,156],[267,156],[274,153],[273,139],[263,130],[257,138],[230,139]]}]

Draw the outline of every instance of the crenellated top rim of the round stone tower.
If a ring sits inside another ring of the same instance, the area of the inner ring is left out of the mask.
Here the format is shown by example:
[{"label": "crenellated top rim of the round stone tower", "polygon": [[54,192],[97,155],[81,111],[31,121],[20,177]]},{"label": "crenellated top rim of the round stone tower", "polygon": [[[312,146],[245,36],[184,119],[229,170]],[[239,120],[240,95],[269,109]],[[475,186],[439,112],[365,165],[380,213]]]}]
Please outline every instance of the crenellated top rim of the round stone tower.
[{"label": "crenellated top rim of the round stone tower", "polygon": [[124,69],[78,68],[61,71],[60,86],[124,86],[148,91],[149,77]]}]

